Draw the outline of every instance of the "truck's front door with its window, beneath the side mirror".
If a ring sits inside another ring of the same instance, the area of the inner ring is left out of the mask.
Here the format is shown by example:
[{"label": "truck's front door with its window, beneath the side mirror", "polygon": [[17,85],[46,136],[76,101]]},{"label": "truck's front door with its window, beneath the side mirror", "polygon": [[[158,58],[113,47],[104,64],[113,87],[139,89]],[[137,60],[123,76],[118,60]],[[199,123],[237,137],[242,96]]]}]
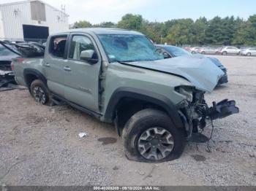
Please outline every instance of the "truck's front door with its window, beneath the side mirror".
[{"label": "truck's front door with its window, beneath the side mirror", "polygon": [[[94,50],[97,63],[89,63],[80,58],[83,50]],[[65,63],[64,83],[65,98],[75,104],[99,111],[99,71],[101,57],[94,39],[89,34],[69,36],[69,51]]]}]

